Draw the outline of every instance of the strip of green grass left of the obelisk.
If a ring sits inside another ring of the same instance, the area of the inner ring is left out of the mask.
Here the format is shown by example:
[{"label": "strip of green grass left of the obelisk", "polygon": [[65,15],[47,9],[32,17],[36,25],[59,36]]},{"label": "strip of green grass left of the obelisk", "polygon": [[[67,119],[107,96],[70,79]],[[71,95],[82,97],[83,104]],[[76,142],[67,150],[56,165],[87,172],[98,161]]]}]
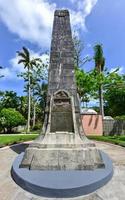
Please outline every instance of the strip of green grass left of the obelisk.
[{"label": "strip of green grass left of the obelisk", "polygon": [[0,135],[0,147],[34,140],[38,134],[2,134]]}]

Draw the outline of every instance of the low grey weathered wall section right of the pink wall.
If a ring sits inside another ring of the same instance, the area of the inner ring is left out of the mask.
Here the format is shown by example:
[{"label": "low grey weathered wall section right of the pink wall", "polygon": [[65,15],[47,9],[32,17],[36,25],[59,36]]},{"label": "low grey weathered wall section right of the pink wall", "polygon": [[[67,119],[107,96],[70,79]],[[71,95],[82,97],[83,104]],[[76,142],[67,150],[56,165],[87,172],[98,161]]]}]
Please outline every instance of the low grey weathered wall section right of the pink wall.
[{"label": "low grey weathered wall section right of the pink wall", "polygon": [[104,135],[125,135],[125,120],[103,120]]}]

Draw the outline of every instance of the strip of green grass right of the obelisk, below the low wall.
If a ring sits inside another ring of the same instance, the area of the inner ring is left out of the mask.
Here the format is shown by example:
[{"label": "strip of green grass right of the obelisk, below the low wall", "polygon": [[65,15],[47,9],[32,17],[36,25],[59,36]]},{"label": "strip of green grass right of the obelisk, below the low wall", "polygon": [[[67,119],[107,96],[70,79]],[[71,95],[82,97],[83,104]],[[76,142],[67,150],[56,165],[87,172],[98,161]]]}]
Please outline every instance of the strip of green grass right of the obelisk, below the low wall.
[{"label": "strip of green grass right of the obelisk, below the low wall", "polygon": [[125,147],[125,135],[123,136],[88,136],[89,139],[97,140],[97,141],[103,141],[103,142],[109,142],[112,144],[120,145]]}]

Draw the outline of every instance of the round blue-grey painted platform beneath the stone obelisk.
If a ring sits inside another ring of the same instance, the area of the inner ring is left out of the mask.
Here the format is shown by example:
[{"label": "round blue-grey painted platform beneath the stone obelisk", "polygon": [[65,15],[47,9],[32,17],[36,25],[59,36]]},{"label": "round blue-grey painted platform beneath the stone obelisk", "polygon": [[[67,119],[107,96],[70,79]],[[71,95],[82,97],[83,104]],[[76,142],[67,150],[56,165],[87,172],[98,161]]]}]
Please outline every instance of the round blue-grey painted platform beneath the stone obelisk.
[{"label": "round blue-grey painted platform beneath the stone obelisk", "polygon": [[95,170],[29,170],[19,168],[24,153],[14,161],[11,174],[23,189],[44,197],[67,198],[94,192],[113,175],[110,158],[100,151],[105,168]]}]

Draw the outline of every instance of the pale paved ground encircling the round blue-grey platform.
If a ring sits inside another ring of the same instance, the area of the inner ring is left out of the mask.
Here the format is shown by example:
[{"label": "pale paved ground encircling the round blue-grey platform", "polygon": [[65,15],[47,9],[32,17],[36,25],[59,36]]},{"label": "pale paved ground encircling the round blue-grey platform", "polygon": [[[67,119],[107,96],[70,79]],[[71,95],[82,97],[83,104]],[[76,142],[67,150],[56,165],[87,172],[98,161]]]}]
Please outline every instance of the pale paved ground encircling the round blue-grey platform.
[{"label": "pale paved ground encircling the round blue-grey platform", "polygon": [[[97,147],[108,153],[113,160],[114,176],[112,180],[96,192],[70,200],[125,200],[125,148],[96,142]],[[16,156],[27,144],[0,149],[0,200],[55,200],[39,197],[26,192],[12,180],[10,170]],[[59,199],[58,199],[59,200]]]}]

